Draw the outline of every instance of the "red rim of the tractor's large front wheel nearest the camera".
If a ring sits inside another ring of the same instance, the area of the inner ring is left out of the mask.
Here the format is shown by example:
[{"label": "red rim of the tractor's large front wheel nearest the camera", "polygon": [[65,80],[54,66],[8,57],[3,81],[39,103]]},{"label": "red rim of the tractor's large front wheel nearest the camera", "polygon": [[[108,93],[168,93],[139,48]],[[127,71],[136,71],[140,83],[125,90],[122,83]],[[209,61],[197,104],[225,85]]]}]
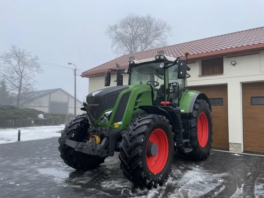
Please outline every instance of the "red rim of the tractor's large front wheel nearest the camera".
[{"label": "red rim of the tractor's large front wheel nearest the camera", "polygon": [[158,152],[155,157],[146,155],[148,169],[152,173],[157,174],[161,172],[161,170],[164,168],[168,159],[168,154],[169,154],[168,138],[164,130],[156,129],[151,133],[148,142],[155,143],[157,144],[158,147]]}]

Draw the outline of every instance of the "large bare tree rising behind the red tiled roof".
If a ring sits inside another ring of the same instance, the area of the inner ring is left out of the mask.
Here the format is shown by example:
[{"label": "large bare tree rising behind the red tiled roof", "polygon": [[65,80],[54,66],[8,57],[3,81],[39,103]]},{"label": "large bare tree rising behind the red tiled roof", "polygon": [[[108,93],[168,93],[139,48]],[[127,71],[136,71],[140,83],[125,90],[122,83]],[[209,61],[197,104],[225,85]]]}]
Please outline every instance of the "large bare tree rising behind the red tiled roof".
[{"label": "large bare tree rising behind the red tiled roof", "polygon": [[172,28],[166,21],[131,13],[116,24],[108,25],[105,32],[117,56],[166,46],[171,33]]}]

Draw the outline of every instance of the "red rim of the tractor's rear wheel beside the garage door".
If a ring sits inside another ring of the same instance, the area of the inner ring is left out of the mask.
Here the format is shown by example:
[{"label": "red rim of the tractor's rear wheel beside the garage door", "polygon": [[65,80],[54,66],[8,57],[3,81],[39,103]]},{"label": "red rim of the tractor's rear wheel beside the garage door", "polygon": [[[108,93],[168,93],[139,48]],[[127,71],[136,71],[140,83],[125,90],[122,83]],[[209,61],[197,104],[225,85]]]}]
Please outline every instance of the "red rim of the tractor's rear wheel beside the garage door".
[{"label": "red rim of the tractor's rear wheel beside the garage door", "polygon": [[201,113],[198,118],[197,136],[201,147],[205,147],[208,140],[208,120],[205,113]]}]

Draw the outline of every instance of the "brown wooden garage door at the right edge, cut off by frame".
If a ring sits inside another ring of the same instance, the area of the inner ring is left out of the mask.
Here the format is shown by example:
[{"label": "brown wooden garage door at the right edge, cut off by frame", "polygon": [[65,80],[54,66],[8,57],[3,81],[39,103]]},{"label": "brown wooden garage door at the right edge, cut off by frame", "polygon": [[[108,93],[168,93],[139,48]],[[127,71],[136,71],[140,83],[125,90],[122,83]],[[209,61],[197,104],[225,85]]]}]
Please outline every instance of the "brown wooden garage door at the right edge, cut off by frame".
[{"label": "brown wooden garage door at the right edge, cut off by frame", "polygon": [[243,83],[244,151],[264,152],[264,82]]}]

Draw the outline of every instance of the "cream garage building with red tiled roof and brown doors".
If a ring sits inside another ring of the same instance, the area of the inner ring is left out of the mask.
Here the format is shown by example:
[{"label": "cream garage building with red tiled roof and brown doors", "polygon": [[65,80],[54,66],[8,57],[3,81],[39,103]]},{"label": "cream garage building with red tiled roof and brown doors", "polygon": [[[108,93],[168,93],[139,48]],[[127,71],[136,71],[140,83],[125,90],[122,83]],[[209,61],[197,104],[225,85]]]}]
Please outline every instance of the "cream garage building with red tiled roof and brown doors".
[{"label": "cream garage building with red tiled roof and brown doors", "polygon": [[[123,55],[81,74],[89,93],[104,88],[109,68],[128,67],[129,57],[154,58],[158,51],[184,58],[189,50],[189,90],[205,93],[212,105],[213,144],[236,152],[264,152],[264,27]],[[115,86],[116,75],[111,75]],[[123,84],[128,75],[123,74]]]}]

